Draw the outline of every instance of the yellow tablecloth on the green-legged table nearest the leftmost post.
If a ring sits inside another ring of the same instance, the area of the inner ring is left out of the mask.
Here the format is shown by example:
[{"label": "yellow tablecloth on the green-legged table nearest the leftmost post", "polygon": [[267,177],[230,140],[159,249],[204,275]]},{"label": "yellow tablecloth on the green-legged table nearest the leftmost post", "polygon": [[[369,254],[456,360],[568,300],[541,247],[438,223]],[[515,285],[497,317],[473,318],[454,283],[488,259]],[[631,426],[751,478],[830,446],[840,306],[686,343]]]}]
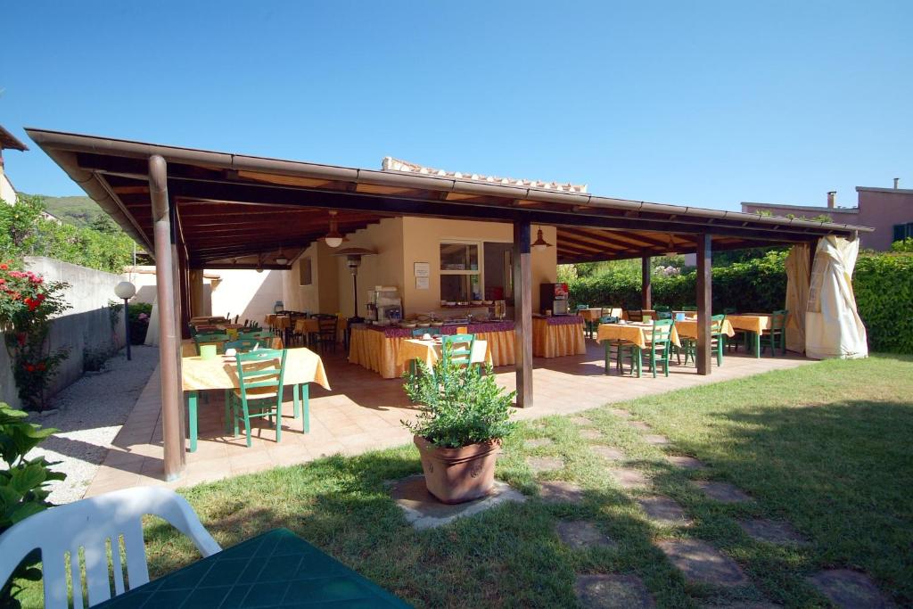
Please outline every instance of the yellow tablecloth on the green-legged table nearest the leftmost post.
[{"label": "yellow tablecloth on the green-legged table nearest the leftmost post", "polygon": [[[191,357],[182,357],[181,376],[184,391],[236,389],[240,386],[237,379],[237,364],[234,360],[226,362],[221,355],[212,360],[204,360],[195,354]],[[327,380],[320,356],[304,347],[286,351],[283,381],[287,385],[318,383],[324,389],[330,389],[330,382]]]}]

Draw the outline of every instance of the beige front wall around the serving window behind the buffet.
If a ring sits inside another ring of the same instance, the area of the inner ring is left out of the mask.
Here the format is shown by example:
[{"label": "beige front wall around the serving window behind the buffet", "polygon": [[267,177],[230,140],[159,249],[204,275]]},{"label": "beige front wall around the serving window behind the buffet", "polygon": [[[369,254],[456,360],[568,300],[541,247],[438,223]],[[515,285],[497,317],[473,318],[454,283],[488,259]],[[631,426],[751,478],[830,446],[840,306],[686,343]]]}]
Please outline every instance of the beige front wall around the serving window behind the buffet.
[{"label": "beige front wall around the serving window behind the buffet", "polygon": [[[533,226],[532,238],[541,228],[545,240],[555,244],[554,226]],[[447,239],[472,241],[513,242],[513,226],[497,222],[471,220],[438,220],[436,218],[404,218],[403,306],[406,313],[425,313],[440,310],[441,304],[441,241]],[[415,288],[415,262],[431,266],[428,289]],[[532,252],[532,310],[539,311],[540,283],[558,280],[558,251],[549,247],[543,252]]]}]

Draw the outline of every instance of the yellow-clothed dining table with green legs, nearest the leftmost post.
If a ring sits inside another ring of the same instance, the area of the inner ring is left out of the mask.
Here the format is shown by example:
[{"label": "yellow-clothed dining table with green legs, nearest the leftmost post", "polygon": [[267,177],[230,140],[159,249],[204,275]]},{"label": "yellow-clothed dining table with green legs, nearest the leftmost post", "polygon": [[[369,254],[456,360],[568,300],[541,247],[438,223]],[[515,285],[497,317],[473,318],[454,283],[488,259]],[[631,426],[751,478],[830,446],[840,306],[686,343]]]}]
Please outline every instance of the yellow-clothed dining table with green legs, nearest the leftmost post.
[{"label": "yellow-clothed dining table with green legs, nearest the leftmost post", "polygon": [[[181,355],[181,383],[187,397],[190,452],[195,452],[199,393],[222,390],[226,393],[227,403],[228,392],[239,389],[241,384],[234,356],[217,355],[215,358],[205,359],[196,354],[194,341],[182,341]],[[307,347],[287,349],[283,381],[292,388],[293,415],[295,418],[303,415],[302,431],[308,433],[310,431],[309,383],[318,383],[324,389],[330,389],[330,381],[327,379],[320,355],[310,351]],[[226,421],[226,425],[228,423]]]}]

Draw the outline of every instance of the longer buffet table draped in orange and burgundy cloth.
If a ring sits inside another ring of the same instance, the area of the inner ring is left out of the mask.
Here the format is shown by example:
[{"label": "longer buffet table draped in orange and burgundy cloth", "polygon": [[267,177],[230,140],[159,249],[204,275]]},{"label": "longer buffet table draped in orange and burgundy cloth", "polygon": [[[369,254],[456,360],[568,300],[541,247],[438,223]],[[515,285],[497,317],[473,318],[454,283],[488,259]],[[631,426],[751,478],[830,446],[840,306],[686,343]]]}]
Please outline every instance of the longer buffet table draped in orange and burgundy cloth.
[{"label": "longer buffet table draped in orange and burgundy cloth", "polygon": [[[441,334],[456,334],[457,328],[466,328],[469,334],[476,336],[477,341],[485,341],[493,365],[509,366],[515,362],[512,320],[445,325],[434,330]],[[412,332],[410,328],[353,326],[349,362],[380,373],[385,379],[399,378],[407,365],[400,351],[403,341],[413,338]]]}]

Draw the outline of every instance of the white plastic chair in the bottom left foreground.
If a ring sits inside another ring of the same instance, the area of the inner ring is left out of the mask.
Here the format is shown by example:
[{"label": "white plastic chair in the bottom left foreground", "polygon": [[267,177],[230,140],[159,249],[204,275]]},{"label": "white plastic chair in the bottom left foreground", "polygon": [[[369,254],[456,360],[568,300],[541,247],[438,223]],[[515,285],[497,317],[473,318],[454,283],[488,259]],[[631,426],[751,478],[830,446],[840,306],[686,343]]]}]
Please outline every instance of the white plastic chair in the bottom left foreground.
[{"label": "white plastic chair in the bottom left foreground", "polygon": [[[110,599],[108,551],[115,594],[124,593],[121,544],[127,556],[131,588],[149,582],[142,516],[167,520],[194,541],[204,556],[222,548],[200,523],[187,500],[168,488],[138,487],[46,509],[0,535],[0,583],[5,583],[30,551],[40,550],[45,584],[45,607],[68,607],[65,556],[69,553],[70,582],[75,606],[83,606],[79,549],[85,551],[89,607]],[[78,599],[78,600],[77,600]]]}]

